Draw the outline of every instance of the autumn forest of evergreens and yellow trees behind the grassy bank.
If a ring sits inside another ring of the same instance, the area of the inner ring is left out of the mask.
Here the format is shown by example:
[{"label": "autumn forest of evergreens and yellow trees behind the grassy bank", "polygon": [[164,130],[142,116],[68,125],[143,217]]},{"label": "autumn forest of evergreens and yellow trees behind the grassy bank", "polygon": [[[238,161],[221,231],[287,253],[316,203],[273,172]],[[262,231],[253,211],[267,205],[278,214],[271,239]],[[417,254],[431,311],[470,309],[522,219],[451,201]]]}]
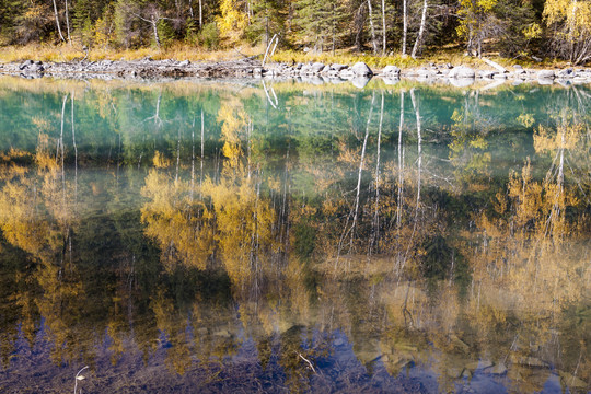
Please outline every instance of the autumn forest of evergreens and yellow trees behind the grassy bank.
[{"label": "autumn forest of evergreens and yellow trees behind the grassy bank", "polygon": [[124,50],[264,46],[418,58],[467,56],[584,65],[589,0],[0,0],[0,46]]}]

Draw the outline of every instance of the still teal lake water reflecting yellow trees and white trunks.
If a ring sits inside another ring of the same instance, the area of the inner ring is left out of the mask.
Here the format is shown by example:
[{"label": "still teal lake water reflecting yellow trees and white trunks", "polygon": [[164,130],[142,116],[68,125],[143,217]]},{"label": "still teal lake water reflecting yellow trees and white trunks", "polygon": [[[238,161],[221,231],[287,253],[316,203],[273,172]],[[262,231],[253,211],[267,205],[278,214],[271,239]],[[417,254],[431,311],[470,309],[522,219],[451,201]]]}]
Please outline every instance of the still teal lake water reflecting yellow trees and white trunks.
[{"label": "still teal lake water reflecting yellow trees and white trunks", "polygon": [[588,392],[590,109],[1,78],[0,391]]}]

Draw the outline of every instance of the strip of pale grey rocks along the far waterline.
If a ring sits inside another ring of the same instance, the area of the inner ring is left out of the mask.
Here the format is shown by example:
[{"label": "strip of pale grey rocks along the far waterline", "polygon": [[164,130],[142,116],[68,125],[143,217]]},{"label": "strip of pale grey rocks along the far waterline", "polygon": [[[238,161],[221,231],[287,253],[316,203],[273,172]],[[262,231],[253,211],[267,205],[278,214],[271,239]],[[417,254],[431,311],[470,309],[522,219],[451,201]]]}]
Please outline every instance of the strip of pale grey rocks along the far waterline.
[{"label": "strip of pale grey rocks along the far waterline", "polygon": [[363,88],[373,78],[382,78],[386,83],[396,83],[401,79],[410,79],[427,83],[449,83],[466,86],[475,81],[488,81],[501,84],[505,81],[537,82],[540,84],[587,84],[591,83],[590,68],[566,69],[526,69],[519,65],[503,68],[485,60],[490,69],[472,69],[466,66],[428,65],[420,68],[399,69],[386,66],[372,70],[363,62],[349,65],[314,63],[271,63],[263,66],[251,58],[220,62],[190,62],[188,60],[102,60],[72,62],[42,62],[26,60],[0,65],[0,74],[21,76],[23,78],[101,78],[101,79],[162,79],[162,78],[265,78],[300,79],[310,83],[340,83],[350,81]]}]

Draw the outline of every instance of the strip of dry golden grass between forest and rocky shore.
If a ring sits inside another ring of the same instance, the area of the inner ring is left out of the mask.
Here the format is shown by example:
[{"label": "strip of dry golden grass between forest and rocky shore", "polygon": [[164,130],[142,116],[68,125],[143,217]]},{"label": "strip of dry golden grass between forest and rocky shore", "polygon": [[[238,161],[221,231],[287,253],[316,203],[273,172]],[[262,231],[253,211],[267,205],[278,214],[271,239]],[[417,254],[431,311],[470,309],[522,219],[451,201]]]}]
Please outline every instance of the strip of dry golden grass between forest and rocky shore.
[{"label": "strip of dry golden grass between forest and rocky shore", "polygon": [[[199,47],[177,44],[166,49],[157,48],[139,48],[139,49],[112,49],[99,48],[91,49],[88,55],[88,60],[138,60],[146,57],[151,57],[154,60],[176,59],[190,61],[223,61],[236,60],[247,56],[258,56],[263,59],[265,47],[251,47],[247,45],[240,46],[234,49],[224,50],[206,50]],[[4,46],[0,48],[0,62],[19,62],[27,59],[63,62],[82,60],[85,53],[78,45],[26,45],[26,46]],[[542,61],[534,62],[530,59],[507,59],[496,56],[495,54],[487,55],[487,58],[497,61],[502,66],[512,66],[519,63],[529,68],[563,68],[567,63],[564,61]],[[277,51],[271,61],[275,62],[308,62],[321,61],[324,63],[344,63],[352,65],[357,61],[363,61],[372,68],[382,68],[387,65],[395,65],[401,68],[420,67],[428,63],[451,63],[467,65],[474,68],[489,68],[480,59],[470,56],[464,56],[463,49],[460,47],[437,48],[428,51],[424,57],[413,59],[409,56],[393,55],[393,56],[374,56],[359,54],[356,51],[340,49],[334,55],[332,53],[323,54],[305,54],[303,51],[282,50]]]}]

